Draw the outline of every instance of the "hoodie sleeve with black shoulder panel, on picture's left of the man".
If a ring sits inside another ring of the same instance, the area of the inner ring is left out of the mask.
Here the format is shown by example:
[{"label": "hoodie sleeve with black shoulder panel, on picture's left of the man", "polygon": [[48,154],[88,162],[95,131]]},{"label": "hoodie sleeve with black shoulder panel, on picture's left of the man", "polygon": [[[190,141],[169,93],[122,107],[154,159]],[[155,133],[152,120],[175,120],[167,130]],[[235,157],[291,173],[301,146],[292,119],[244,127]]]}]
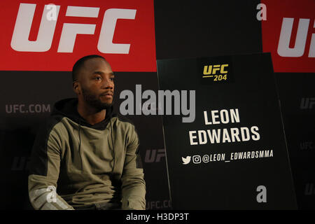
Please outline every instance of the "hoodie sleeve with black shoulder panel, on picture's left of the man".
[{"label": "hoodie sleeve with black shoulder panel, on picture's left of the man", "polygon": [[52,127],[52,124],[43,126],[34,141],[29,166],[29,200],[36,210],[73,210],[56,192],[62,145]]}]

